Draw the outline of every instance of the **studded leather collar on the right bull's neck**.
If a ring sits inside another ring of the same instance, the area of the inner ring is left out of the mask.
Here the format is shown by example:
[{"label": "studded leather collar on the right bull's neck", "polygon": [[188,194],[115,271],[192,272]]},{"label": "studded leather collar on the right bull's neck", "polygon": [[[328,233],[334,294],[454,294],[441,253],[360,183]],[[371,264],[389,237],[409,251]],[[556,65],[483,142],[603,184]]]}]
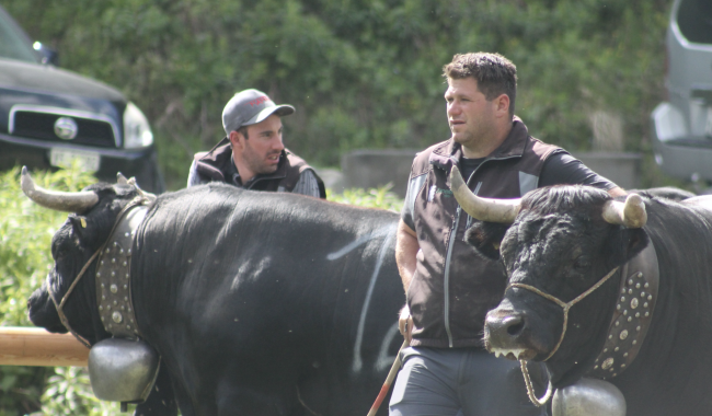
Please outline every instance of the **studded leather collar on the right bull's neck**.
[{"label": "studded leather collar on the right bull's neck", "polygon": [[616,311],[604,349],[588,371],[588,377],[608,380],[630,367],[653,320],[658,286],[657,255],[651,242],[621,267]]}]

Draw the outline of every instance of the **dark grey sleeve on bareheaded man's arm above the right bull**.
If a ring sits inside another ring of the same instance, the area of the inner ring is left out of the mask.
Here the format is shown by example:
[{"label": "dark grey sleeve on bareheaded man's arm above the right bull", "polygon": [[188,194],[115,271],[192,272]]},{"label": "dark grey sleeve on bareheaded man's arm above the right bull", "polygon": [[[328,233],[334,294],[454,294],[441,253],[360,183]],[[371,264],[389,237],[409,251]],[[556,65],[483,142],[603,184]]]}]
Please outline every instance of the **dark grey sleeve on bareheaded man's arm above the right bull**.
[{"label": "dark grey sleeve on bareheaded man's arm above the right bull", "polygon": [[551,185],[589,185],[604,190],[610,190],[616,185],[608,178],[597,174],[582,161],[571,154],[560,151],[547,159],[539,176],[539,186]]}]

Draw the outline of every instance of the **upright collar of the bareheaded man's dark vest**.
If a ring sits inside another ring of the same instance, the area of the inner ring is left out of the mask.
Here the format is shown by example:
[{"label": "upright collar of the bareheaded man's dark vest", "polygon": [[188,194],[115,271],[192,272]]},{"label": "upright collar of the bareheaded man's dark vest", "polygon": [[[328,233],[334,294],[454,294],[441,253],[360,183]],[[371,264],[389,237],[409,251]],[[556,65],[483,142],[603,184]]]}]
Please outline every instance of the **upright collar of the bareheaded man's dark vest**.
[{"label": "upright collar of the bareheaded man's dark vest", "polygon": [[[527,146],[528,137],[529,130],[527,126],[525,126],[519,117],[515,116],[512,123],[512,130],[509,130],[507,138],[485,158],[485,161],[491,159],[521,158]],[[429,163],[449,172],[452,164],[459,165],[460,158],[462,158],[462,145],[449,139],[433,150],[429,157]]]}]

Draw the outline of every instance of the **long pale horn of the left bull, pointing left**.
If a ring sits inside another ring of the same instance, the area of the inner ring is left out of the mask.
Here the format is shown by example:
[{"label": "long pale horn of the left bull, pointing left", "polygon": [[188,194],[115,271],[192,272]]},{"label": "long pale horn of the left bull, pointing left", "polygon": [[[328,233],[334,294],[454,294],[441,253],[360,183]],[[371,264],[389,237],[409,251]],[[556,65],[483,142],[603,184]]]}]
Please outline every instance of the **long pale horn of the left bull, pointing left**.
[{"label": "long pale horn of the left bull, pointing left", "polygon": [[57,192],[37,186],[30,176],[27,166],[22,166],[20,186],[35,204],[57,211],[82,212],[99,203],[99,195],[93,192]]}]

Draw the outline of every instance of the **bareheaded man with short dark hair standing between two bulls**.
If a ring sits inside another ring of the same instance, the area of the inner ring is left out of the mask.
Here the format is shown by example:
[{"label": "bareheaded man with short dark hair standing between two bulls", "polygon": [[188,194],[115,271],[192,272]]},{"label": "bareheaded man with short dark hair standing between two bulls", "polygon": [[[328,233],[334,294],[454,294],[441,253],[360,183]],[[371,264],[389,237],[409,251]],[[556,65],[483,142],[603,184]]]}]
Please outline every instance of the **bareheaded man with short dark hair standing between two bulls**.
[{"label": "bareheaded man with short dark hair standing between two bulls", "polygon": [[[517,361],[484,350],[484,317],[501,301],[506,274],[463,240],[473,220],[449,187],[457,165],[475,195],[520,197],[537,187],[586,184],[625,193],[565,150],[529,136],[514,115],[516,67],[497,54],[456,55],[444,67],[451,137],[413,161],[395,259],[407,303],[399,328],[410,340],[391,416],[543,415],[527,397]],[[539,396],[543,368],[530,365]]]}]

